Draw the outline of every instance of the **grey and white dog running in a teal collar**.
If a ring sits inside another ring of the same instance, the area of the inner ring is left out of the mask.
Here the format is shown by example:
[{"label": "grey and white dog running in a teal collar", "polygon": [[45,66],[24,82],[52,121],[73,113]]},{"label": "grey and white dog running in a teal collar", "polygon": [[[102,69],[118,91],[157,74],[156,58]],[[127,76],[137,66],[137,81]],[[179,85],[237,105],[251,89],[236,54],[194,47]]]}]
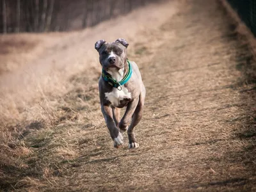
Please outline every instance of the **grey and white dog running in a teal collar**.
[{"label": "grey and white dog running in a teal collar", "polygon": [[[101,111],[116,148],[122,147],[124,143],[120,131],[127,131],[129,148],[139,147],[134,127],[141,120],[146,95],[138,66],[127,59],[128,45],[124,38],[118,38],[112,43],[105,40],[95,43],[102,65],[99,79]],[[125,113],[120,120],[120,109],[124,107]]]}]

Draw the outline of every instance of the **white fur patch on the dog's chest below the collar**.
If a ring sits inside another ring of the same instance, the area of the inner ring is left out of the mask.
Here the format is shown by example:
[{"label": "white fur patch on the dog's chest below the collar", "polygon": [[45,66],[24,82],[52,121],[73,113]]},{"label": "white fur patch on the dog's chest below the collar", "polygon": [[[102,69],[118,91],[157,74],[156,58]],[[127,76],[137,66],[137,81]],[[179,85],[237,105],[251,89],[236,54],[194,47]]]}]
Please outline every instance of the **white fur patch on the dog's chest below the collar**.
[{"label": "white fur patch on the dog's chest below the collar", "polygon": [[111,102],[111,104],[115,107],[124,107],[125,102],[124,100],[130,100],[131,99],[131,93],[125,88],[124,85],[122,85],[122,90],[118,90],[116,88],[113,88],[112,92],[105,93],[106,99]]}]

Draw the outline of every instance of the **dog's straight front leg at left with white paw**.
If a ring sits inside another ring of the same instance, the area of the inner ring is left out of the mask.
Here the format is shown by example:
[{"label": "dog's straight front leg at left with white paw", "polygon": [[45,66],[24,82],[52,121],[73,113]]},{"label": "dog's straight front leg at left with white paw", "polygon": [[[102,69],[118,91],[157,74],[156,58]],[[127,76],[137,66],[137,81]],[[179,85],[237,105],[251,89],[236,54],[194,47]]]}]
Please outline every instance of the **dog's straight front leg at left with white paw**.
[{"label": "dog's straight front leg at left with white paw", "polygon": [[118,148],[124,143],[124,138],[118,128],[116,127],[115,121],[113,119],[113,111],[110,106],[102,105],[101,106],[102,114],[105,118],[108,130],[112,140],[115,142],[114,147]]}]

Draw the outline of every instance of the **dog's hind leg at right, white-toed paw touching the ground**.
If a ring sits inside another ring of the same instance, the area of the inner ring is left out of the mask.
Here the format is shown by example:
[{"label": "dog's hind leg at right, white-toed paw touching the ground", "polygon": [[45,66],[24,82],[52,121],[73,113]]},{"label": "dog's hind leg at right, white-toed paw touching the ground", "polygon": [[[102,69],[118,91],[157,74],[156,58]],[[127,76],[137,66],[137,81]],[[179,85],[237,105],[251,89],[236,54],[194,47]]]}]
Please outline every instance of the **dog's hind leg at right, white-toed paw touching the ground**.
[{"label": "dog's hind leg at right, white-toed paw touching the ground", "polygon": [[139,147],[139,143],[136,142],[133,129],[136,125],[138,125],[143,115],[144,100],[145,100],[145,92],[141,92],[138,106],[136,107],[132,115],[132,122],[127,131],[128,138],[129,138],[129,148]]}]

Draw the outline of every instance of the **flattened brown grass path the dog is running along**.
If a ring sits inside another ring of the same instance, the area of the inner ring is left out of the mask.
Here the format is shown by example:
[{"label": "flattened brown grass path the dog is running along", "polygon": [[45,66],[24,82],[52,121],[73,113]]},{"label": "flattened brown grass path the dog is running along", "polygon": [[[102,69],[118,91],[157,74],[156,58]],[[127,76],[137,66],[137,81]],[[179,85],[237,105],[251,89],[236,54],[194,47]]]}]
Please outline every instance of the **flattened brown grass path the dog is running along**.
[{"label": "flattened brown grass path the dog is running along", "polygon": [[250,85],[239,86],[236,69],[246,50],[218,4],[189,5],[155,36],[165,40],[152,60],[147,45],[134,58],[140,58],[147,86],[145,115],[136,127],[141,148],[106,150],[108,132],[99,135],[105,125],[98,125],[87,137],[95,134],[100,147],[85,147],[67,167],[70,189],[255,190],[255,134],[243,137],[253,128],[243,126],[252,118],[255,96],[241,92]]}]

